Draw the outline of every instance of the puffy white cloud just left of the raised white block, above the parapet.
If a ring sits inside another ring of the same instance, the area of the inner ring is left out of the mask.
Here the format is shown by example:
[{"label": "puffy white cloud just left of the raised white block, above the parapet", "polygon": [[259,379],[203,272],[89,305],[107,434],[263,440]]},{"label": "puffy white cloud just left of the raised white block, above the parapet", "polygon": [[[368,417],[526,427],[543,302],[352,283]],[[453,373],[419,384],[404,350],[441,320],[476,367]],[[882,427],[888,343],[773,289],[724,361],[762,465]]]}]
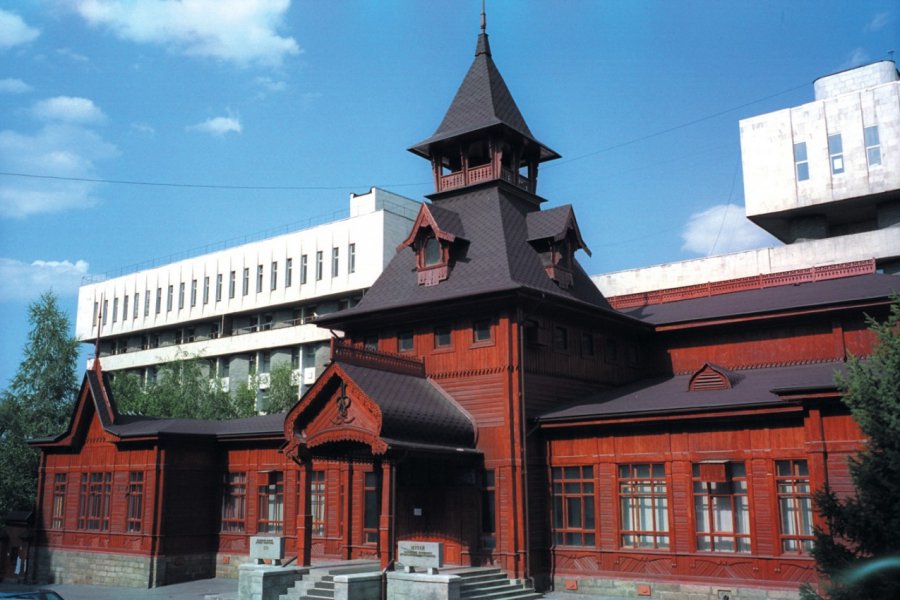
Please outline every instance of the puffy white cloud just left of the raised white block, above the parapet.
[{"label": "puffy white cloud just left of the raised white block, above the parapet", "polygon": [[682,250],[702,256],[779,244],[747,220],[744,208],[736,204],[719,204],[694,213],[681,232],[681,239],[684,240]]}]

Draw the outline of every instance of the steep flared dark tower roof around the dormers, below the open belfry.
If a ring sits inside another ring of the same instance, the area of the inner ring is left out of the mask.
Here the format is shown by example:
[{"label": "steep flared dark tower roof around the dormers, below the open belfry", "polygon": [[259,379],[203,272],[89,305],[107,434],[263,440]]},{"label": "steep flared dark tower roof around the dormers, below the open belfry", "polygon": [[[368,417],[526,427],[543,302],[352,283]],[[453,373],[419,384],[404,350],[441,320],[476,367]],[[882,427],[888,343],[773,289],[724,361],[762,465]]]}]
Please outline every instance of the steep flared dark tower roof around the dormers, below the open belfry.
[{"label": "steep flared dark tower roof around the dormers, below the open belfry", "polygon": [[577,262],[573,265],[572,287],[560,288],[550,279],[540,255],[528,243],[529,209],[526,203],[515,198],[518,193],[502,182],[495,182],[443,199],[441,213],[457,215],[468,241],[464,247],[455,249],[461,256],[452,263],[450,276],[438,285],[419,285],[415,252],[404,248],[359,304],[324,315],[319,323],[342,323],[378,311],[512,290],[531,290],[618,314]]}]

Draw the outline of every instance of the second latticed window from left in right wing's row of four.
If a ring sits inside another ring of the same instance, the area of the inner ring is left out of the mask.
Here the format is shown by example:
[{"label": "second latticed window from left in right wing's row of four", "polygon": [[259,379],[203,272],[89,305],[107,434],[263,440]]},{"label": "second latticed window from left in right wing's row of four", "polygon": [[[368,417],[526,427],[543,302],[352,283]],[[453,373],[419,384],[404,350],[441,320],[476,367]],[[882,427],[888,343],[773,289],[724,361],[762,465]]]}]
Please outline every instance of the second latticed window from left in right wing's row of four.
[{"label": "second latticed window from left in right wing's row of four", "polygon": [[665,465],[619,465],[619,513],[623,547],[669,547]]}]

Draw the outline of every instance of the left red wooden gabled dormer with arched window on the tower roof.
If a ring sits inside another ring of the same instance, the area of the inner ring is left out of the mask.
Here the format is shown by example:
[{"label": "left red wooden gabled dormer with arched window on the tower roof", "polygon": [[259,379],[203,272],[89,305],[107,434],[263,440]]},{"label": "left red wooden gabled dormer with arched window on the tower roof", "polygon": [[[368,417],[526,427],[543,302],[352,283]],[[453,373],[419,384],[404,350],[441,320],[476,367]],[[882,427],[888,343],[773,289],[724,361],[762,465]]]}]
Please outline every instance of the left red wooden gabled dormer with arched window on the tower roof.
[{"label": "left red wooden gabled dormer with arched window on the tower roof", "polygon": [[419,285],[437,285],[450,276],[454,243],[462,241],[462,225],[456,213],[423,204],[409,236],[397,251],[411,248],[416,254]]}]

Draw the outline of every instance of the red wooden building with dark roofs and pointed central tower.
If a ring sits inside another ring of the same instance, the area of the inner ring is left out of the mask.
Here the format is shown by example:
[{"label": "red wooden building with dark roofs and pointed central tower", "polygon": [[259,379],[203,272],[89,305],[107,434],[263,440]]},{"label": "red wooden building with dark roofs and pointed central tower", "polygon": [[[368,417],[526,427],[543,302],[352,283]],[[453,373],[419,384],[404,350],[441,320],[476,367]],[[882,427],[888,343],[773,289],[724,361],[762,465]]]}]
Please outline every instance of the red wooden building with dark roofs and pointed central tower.
[{"label": "red wooden building with dark roofs and pointed central tower", "polygon": [[[835,371],[898,279],[871,263],[605,299],[571,206],[542,210],[531,133],[487,35],[433,136],[435,192],[287,415],[119,415],[89,372],[42,450],[39,577],[233,574],[248,538],[302,564],[399,539],[539,588],[796,589],[811,492],[862,443]],[[649,586],[649,588],[644,587]]]}]

